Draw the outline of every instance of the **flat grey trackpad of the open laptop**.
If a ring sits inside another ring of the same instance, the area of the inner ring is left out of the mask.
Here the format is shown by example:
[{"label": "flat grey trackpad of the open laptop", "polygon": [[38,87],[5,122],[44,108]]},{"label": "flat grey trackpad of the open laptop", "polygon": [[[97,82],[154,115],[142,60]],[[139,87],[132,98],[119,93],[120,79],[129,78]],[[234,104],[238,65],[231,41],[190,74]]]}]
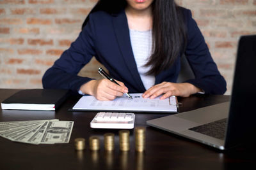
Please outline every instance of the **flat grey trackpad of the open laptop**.
[{"label": "flat grey trackpad of the open laptop", "polygon": [[184,118],[198,124],[207,124],[228,117],[228,109],[230,102],[214,104],[205,108],[199,108],[184,113],[179,113],[175,117]]}]

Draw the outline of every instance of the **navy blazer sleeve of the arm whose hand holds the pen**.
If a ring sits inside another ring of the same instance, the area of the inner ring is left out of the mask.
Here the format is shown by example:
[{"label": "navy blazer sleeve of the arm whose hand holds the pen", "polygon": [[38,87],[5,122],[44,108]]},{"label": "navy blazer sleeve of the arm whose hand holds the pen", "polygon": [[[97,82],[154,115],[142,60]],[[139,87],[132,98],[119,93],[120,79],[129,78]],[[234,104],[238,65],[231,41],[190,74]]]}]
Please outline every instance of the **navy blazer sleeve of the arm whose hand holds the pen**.
[{"label": "navy blazer sleeve of the arm whose hand holds the pen", "polygon": [[45,89],[70,89],[77,93],[81,85],[92,80],[92,78],[77,76],[77,73],[95,56],[94,30],[93,19],[90,17],[76,41],[45,72],[42,78]]}]

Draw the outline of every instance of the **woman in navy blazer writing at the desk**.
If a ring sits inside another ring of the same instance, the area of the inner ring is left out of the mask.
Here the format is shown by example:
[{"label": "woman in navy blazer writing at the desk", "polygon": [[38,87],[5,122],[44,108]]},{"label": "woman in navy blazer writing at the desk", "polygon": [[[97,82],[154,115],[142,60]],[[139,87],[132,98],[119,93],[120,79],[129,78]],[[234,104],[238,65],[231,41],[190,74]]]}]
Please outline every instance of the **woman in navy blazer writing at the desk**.
[{"label": "woman in navy blazer writing at the desk", "polygon": [[[126,92],[143,97],[223,94],[226,82],[212,60],[191,11],[174,0],[102,0],[83,31],[43,77],[44,88],[71,89],[102,101]],[[175,83],[185,54],[195,79]],[[77,76],[95,56],[120,86]]]}]

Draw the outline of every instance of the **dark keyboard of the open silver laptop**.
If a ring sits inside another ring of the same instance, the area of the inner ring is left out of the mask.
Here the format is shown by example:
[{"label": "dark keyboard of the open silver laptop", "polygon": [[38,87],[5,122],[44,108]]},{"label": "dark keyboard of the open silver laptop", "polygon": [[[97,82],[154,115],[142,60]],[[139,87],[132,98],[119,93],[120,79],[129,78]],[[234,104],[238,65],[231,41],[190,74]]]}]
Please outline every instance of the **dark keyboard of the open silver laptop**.
[{"label": "dark keyboard of the open silver laptop", "polygon": [[205,134],[217,139],[225,138],[225,130],[227,125],[227,118],[223,118],[216,122],[211,122],[209,124],[204,124],[190,128],[189,130]]}]

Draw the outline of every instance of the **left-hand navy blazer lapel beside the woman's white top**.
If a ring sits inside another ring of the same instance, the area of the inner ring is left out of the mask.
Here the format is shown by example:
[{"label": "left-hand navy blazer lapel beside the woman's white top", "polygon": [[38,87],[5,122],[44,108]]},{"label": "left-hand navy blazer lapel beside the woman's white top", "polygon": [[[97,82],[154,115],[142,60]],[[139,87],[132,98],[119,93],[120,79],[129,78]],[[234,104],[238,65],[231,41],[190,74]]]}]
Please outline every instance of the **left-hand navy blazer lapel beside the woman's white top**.
[{"label": "left-hand navy blazer lapel beside the woman's white top", "polygon": [[124,10],[113,16],[113,28],[120,51],[122,53],[122,57],[125,60],[127,68],[129,69],[129,73],[132,74],[134,83],[138,85],[138,90],[140,92],[144,92],[146,89],[141,81],[132,52],[129,27]]}]

